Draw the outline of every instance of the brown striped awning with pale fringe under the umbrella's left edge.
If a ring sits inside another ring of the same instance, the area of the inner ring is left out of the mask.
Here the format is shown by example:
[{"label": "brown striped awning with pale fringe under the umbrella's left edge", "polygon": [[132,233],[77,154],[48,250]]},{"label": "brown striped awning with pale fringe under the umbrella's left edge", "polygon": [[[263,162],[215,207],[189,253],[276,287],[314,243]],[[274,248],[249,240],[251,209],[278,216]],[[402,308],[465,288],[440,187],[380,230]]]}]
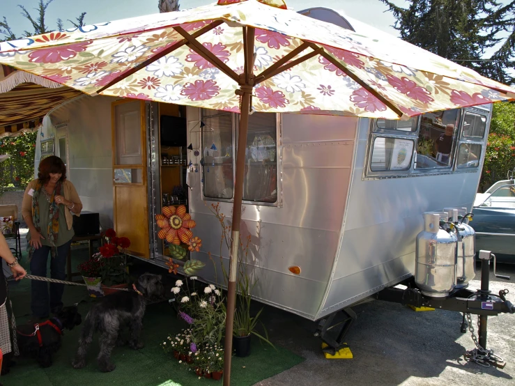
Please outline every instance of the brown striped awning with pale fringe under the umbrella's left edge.
[{"label": "brown striped awning with pale fringe under the umbrella's left edge", "polygon": [[1,67],[0,137],[35,130],[51,109],[82,95],[49,79]]}]

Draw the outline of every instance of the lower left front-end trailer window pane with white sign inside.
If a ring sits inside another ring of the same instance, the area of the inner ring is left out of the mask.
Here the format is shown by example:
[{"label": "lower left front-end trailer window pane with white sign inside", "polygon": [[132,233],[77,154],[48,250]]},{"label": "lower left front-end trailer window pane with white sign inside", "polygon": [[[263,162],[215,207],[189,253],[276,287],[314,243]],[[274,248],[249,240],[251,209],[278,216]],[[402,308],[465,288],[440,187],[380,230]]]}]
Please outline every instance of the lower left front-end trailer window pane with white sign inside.
[{"label": "lower left front-end trailer window pane with white sign inside", "polygon": [[414,141],[403,138],[376,137],[372,148],[371,171],[408,170]]}]

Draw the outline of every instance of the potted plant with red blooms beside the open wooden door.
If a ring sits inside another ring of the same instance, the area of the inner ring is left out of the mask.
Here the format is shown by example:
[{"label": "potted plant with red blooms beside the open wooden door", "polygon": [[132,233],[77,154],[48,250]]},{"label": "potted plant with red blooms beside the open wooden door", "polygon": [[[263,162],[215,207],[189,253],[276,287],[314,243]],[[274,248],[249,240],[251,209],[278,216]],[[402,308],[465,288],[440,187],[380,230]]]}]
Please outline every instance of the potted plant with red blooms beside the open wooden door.
[{"label": "potted plant with red blooms beside the open wooden door", "polygon": [[105,295],[116,292],[114,288],[127,288],[128,269],[125,249],[130,246],[126,237],[116,237],[114,229],[105,232],[106,242],[94,256],[102,261],[100,277],[102,277],[102,290]]}]

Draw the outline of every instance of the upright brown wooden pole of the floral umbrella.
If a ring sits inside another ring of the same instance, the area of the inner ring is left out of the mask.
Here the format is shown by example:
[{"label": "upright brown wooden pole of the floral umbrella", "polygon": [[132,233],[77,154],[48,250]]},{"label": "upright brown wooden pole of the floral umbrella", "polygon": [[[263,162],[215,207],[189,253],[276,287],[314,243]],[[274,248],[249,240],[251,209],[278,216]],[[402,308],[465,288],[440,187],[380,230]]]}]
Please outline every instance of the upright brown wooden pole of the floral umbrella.
[{"label": "upright brown wooden pole of the floral umbrella", "polygon": [[240,246],[241,203],[243,200],[243,179],[245,178],[245,150],[247,148],[247,128],[249,127],[250,100],[254,83],[254,29],[244,29],[245,73],[242,76],[240,125],[238,148],[236,151],[236,180],[234,182],[234,202],[231,227],[231,251],[229,255],[229,283],[227,284],[227,311],[224,342],[224,386],[231,385],[231,360],[233,353],[233,323],[236,309],[236,279],[238,274],[238,247]]}]

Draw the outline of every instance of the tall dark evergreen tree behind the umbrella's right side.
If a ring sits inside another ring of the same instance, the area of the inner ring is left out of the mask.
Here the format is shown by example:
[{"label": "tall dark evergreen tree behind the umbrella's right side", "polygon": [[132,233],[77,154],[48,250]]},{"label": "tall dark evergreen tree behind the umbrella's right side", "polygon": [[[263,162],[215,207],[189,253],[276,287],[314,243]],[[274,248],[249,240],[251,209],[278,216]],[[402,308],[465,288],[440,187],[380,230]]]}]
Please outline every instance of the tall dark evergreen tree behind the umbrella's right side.
[{"label": "tall dark evergreen tree behind the umbrella's right side", "polygon": [[[381,1],[397,19],[394,28],[403,40],[498,82],[515,82],[507,71],[515,68],[514,0],[410,0],[408,8]],[[484,57],[486,49],[501,42]]]}]

